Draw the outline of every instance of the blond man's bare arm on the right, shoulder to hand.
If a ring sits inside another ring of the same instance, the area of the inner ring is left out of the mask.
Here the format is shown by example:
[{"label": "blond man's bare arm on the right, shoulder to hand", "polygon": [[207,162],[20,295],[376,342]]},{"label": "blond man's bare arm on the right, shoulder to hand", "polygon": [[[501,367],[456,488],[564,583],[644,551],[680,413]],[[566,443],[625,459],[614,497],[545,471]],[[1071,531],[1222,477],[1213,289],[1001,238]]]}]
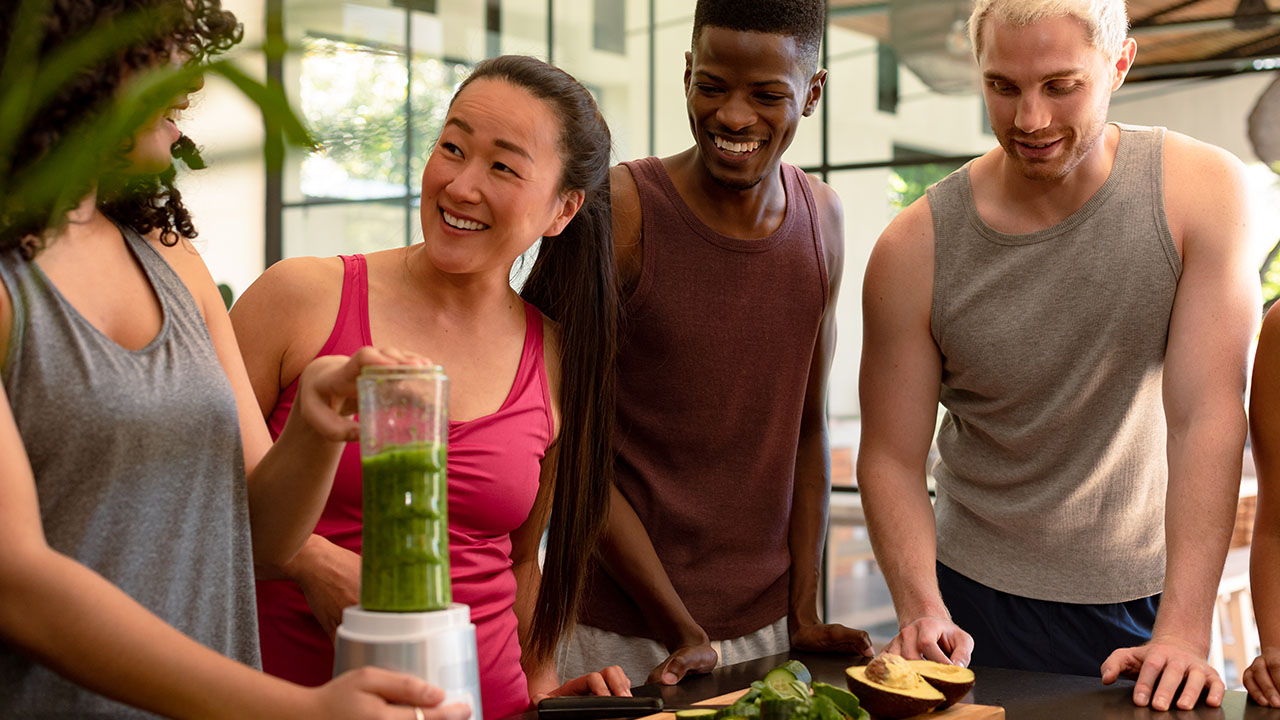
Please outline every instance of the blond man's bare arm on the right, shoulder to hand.
[{"label": "blond man's bare arm on the right, shoulder to hand", "polygon": [[[1222,682],[1204,662],[1217,578],[1235,516],[1244,448],[1244,369],[1261,305],[1248,256],[1248,196],[1239,160],[1170,133],[1165,141],[1165,205],[1180,241],[1183,274],[1165,354],[1169,425],[1165,501],[1167,564],[1152,641],[1142,653],[1134,702],[1192,707],[1202,687],[1222,701]],[[1103,679],[1128,651],[1103,664]],[[1132,670],[1130,670],[1132,671]],[[1157,678],[1160,679],[1157,684]]]}]

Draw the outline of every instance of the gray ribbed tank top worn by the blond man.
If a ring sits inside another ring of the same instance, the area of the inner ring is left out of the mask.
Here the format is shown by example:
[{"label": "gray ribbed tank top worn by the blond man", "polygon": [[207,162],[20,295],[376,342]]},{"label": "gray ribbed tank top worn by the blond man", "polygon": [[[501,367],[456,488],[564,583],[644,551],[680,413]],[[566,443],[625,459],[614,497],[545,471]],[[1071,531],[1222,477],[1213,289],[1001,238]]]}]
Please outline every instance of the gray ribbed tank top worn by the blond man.
[{"label": "gray ribbed tank top worn by the blond man", "polygon": [[1161,378],[1181,261],[1165,131],[1119,127],[1110,177],[1051,228],[983,223],[968,165],[928,191],[938,560],[1024,597],[1124,602],[1164,582]]}]

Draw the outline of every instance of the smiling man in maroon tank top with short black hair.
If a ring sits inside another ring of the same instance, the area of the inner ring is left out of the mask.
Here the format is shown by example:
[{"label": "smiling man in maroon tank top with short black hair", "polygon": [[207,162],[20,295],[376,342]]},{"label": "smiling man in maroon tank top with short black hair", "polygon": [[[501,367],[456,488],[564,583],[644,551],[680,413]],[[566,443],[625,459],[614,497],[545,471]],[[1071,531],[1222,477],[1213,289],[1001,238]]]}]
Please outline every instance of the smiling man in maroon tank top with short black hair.
[{"label": "smiling man in maroon tank top with short black hair", "polygon": [[699,1],[692,147],[613,168],[617,488],[566,670],[675,683],[717,655],[869,647],[817,610],[841,208],[782,164],[823,23],[820,0]]}]

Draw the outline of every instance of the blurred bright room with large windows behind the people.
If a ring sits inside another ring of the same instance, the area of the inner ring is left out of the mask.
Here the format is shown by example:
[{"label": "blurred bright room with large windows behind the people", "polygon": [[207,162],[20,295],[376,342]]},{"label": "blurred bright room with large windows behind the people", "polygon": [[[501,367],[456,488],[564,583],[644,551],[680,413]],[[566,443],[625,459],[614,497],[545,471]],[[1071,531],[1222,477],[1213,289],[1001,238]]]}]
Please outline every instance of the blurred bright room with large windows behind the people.
[{"label": "blurred bright room with large windows behind the people", "polygon": [[[219,78],[209,79],[180,120],[210,165],[180,179],[201,233],[197,245],[233,297],[282,258],[415,242],[426,154],[453,88],[484,58],[530,54],[576,76],[609,122],[616,160],[668,155],[691,142],[681,87],[690,0],[224,4],[246,27],[233,58],[278,82],[323,142],[319,152],[288,149],[282,163],[268,164],[261,117]],[[845,208],[829,386],[836,492],[827,616],[878,639],[896,624],[852,471],[861,275],[877,236],[901,208],[996,143],[964,28],[970,8],[969,0],[831,0],[826,94],[786,156],[828,182]],[[1129,17],[1138,60],[1112,97],[1110,119],[1165,126],[1248,164],[1258,215],[1253,250],[1270,301],[1280,293],[1280,0],[1130,0]],[[262,51],[273,37],[287,44],[283,58]],[[1248,498],[1248,477],[1244,486]],[[1242,521],[1252,518],[1245,502]],[[1252,619],[1240,607],[1248,593],[1240,601],[1239,568],[1231,568],[1229,561],[1226,620],[1215,637],[1217,662],[1236,683],[1242,667],[1231,666],[1230,643],[1248,644]],[[1244,583],[1247,589],[1247,575]],[[1234,623],[1233,612],[1240,618]]]}]

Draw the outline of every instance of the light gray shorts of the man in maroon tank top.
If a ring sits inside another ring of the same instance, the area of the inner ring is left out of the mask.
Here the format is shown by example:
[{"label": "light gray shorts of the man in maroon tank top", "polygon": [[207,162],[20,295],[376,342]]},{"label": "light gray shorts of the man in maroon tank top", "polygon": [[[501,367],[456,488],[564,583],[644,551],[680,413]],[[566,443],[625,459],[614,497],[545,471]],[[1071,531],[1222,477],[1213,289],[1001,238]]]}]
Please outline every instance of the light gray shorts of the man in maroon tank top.
[{"label": "light gray shorts of the man in maroon tank top", "polygon": [[[719,656],[717,667],[787,652],[791,650],[787,619],[781,618],[740,638],[712,641],[712,648]],[[609,665],[618,665],[632,685],[643,685],[649,673],[667,660],[668,655],[671,653],[662,643],[649,638],[620,635],[590,625],[577,625],[556,650],[556,671],[564,683]]]}]

